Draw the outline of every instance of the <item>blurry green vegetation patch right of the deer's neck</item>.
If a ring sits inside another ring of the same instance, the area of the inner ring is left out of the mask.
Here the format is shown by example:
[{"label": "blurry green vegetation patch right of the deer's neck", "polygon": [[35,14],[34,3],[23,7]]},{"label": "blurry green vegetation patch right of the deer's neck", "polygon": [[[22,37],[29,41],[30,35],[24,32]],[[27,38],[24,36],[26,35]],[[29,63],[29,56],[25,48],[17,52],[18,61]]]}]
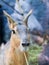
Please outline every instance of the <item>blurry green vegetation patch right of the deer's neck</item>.
[{"label": "blurry green vegetation patch right of the deer's neck", "polygon": [[31,45],[29,48],[29,63],[30,65],[38,65],[38,56],[42,50],[42,46],[37,44]]}]

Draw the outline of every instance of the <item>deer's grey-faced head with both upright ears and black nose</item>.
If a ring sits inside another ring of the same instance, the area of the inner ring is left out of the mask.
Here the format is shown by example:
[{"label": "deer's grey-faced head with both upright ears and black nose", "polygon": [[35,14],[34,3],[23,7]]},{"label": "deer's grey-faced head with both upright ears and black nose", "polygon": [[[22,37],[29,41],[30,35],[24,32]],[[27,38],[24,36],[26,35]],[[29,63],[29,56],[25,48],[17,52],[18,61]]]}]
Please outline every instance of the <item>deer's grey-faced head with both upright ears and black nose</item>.
[{"label": "deer's grey-faced head with both upright ears and black nose", "polygon": [[30,10],[30,12],[24,17],[22,23],[21,22],[17,23],[12,19],[12,17],[7,12],[4,11],[4,14],[7,16],[8,19],[9,28],[12,31],[11,34],[15,36],[14,40],[16,40],[17,42],[19,38],[20,40],[19,46],[23,49],[26,49],[30,44],[30,34],[29,34],[27,22],[28,22],[28,17],[31,15],[31,13],[32,10]]}]

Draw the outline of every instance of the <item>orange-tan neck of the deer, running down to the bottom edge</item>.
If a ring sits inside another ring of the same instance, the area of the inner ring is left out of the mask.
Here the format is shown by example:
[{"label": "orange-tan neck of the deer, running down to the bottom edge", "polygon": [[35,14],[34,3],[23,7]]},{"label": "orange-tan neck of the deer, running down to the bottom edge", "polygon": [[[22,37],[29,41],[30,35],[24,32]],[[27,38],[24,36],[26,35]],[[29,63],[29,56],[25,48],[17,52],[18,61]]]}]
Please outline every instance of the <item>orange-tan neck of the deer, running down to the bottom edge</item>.
[{"label": "orange-tan neck of the deer, running down to the bottom edge", "polygon": [[14,65],[26,65],[26,60],[24,57],[24,53],[27,55],[27,52],[21,52],[19,50],[19,44],[20,44],[20,38],[18,35],[11,34],[11,57],[13,62],[15,63]]}]

